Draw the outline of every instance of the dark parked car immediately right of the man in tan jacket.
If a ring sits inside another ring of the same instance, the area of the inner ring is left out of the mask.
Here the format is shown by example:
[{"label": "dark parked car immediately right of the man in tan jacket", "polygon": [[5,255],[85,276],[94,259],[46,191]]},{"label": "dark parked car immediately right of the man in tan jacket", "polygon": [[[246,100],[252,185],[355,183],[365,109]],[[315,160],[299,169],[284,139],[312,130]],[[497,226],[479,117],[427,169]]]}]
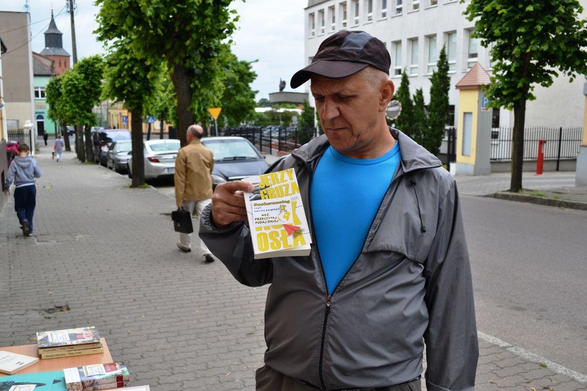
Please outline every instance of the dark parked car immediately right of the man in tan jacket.
[{"label": "dark parked car immediately right of the man in tan jacket", "polygon": [[204,137],[202,144],[214,152],[212,188],[227,181],[263,174],[268,168],[264,156],[246,138]]}]

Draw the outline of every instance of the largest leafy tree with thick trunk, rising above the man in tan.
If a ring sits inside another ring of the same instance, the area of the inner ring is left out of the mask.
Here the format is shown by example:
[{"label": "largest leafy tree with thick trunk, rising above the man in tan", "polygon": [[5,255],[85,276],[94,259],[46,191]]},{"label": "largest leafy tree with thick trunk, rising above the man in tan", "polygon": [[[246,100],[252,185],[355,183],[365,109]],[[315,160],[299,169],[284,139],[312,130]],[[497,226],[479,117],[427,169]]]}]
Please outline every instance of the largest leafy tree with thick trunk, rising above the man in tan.
[{"label": "largest leafy tree with thick trunk, rising above the man in tan", "polygon": [[[238,20],[232,0],[96,0],[99,40],[125,39],[146,62],[167,63],[177,96],[177,128],[185,131],[220,103],[222,72]],[[181,45],[178,45],[181,43]]]}]

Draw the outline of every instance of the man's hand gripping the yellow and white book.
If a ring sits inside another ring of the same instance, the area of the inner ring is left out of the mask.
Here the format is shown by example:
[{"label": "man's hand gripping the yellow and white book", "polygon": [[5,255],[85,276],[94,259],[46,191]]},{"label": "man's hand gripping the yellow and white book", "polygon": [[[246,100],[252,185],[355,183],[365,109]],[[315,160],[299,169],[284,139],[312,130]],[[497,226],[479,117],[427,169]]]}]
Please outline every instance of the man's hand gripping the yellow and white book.
[{"label": "man's hand gripping the yellow and white book", "polygon": [[247,208],[242,192],[253,192],[255,186],[245,181],[221,183],[212,195],[212,220],[219,227],[225,227],[235,221],[247,220]]}]

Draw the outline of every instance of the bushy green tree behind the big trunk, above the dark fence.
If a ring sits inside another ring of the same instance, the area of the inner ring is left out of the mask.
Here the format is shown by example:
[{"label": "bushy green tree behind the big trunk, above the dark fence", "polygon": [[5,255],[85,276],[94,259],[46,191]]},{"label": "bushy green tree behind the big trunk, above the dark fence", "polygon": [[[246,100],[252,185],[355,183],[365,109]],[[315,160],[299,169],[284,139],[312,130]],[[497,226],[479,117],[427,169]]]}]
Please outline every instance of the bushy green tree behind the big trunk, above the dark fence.
[{"label": "bushy green tree behind the big trunk, above the dark fence", "polygon": [[257,73],[252,70],[252,63],[239,61],[237,56],[230,55],[222,81],[225,90],[222,95],[220,113],[229,127],[237,127],[252,118],[255,113],[257,91],[251,90],[250,84],[257,78]]}]

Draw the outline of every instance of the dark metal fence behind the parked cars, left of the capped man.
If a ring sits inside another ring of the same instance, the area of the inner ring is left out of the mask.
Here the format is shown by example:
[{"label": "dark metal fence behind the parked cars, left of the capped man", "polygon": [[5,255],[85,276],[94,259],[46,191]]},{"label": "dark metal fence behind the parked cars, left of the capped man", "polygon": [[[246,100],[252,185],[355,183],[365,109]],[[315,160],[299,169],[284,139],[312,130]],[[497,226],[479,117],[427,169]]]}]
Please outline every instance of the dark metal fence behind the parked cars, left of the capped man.
[{"label": "dark metal fence behind the parked cars, left of the capped man", "polygon": [[318,135],[317,128],[238,127],[227,128],[222,135],[240,136],[251,141],[260,152],[291,152]]}]

